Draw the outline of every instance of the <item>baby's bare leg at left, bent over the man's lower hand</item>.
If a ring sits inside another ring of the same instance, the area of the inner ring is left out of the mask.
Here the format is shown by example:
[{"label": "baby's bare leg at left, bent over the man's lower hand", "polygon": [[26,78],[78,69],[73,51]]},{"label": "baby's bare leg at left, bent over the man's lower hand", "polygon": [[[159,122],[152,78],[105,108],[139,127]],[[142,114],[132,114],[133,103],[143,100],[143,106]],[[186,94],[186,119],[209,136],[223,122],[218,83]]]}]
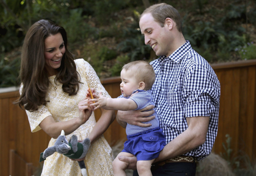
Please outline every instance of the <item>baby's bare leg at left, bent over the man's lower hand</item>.
[{"label": "baby's bare leg at left, bent over the man's lower hand", "polygon": [[134,155],[127,152],[120,152],[112,163],[113,172],[115,176],[126,176],[125,170],[128,167],[127,162],[120,161],[118,156],[133,157]]}]

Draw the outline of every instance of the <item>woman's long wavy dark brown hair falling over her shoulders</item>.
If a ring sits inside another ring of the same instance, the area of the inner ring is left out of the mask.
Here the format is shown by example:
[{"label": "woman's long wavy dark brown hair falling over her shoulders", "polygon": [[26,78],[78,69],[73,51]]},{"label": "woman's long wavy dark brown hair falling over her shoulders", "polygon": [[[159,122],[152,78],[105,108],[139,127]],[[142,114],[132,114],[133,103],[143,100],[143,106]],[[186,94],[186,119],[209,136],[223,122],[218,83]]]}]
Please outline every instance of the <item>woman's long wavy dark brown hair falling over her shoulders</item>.
[{"label": "woman's long wavy dark brown hair falling over her shoulders", "polygon": [[49,87],[48,74],[45,65],[45,39],[50,35],[61,33],[66,52],[61,66],[56,69],[55,83],[62,83],[62,89],[69,95],[76,95],[79,89],[79,79],[73,55],[67,49],[67,34],[63,27],[50,20],[39,20],[26,33],[21,54],[21,71],[19,78],[23,83],[21,96],[14,103],[28,111],[35,111],[40,105],[46,105],[46,93]]}]

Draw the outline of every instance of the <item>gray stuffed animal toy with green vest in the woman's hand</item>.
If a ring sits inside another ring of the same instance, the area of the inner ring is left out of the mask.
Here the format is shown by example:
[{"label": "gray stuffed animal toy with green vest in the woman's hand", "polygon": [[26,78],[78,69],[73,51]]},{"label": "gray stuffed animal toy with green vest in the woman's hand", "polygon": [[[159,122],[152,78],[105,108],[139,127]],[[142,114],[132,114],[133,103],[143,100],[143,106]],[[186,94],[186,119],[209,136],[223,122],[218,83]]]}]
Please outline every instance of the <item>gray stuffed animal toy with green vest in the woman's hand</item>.
[{"label": "gray stuffed animal toy with green vest in the woman's hand", "polygon": [[[70,142],[67,142],[65,138],[64,130],[61,131],[61,135],[57,138],[53,147],[48,147],[43,152],[43,159],[52,155],[54,152],[61,153],[72,159],[84,158],[90,147],[90,139],[86,138],[82,142],[77,141],[77,136],[72,135]],[[83,176],[87,176],[87,171],[85,167],[85,161],[78,161],[79,167]]]}]

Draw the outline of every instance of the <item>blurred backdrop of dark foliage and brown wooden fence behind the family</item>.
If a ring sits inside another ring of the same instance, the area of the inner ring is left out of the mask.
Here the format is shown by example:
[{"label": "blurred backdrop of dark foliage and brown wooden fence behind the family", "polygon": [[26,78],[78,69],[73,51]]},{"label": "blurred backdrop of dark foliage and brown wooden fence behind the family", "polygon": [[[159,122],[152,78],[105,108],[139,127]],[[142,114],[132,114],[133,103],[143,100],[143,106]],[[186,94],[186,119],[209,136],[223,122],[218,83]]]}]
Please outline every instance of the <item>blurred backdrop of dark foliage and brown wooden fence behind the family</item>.
[{"label": "blurred backdrop of dark foliage and brown wooden fence behind the family", "polygon": [[[21,46],[28,28],[51,19],[66,29],[74,58],[88,61],[112,97],[120,95],[120,71],[134,60],[157,59],[138,25],[155,3],[174,6],[185,39],[213,67],[221,82],[218,135],[197,176],[256,175],[255,0],[0,0],[0,175],[40,175],[39,154],[49,136],[31,133],[25,111],[12,103]],[[29,64],[29,63],[28,63]],[[95,112],[96,120],[101,112]],[[104,133],[118,153],[125,130],[114,121]]]}]

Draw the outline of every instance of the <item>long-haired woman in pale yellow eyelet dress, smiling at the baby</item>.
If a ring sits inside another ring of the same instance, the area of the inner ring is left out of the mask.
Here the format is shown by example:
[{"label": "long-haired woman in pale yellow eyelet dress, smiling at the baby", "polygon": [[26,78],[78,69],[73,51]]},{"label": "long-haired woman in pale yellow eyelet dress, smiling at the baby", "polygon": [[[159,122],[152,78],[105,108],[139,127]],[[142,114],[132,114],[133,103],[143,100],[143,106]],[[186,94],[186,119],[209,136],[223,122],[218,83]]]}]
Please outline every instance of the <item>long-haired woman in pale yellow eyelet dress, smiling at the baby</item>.
[{"label": "long-haired woman in pale yellow eyelet dress, smiling at the baby", "polygon": [[[43,67],[42,67],[43,66]],[[32,132],[40,129],[52,138],[48,147],[65,131],[78,140],[89,138],[85,157],[88,175],[113,175],[113,153],[103,133],[114,120],[114,112],[102,110],[96,123],[90,108],[91,88],[109,96],[96,72],[83,59],[74,60],[67,49],[65,29],[49,20],[39,20],[28,30],[21,56],[21,96],[16,104],[24,106]],[[44,162],[42,175],[81,175],[78,162],[55,152]]]}]

